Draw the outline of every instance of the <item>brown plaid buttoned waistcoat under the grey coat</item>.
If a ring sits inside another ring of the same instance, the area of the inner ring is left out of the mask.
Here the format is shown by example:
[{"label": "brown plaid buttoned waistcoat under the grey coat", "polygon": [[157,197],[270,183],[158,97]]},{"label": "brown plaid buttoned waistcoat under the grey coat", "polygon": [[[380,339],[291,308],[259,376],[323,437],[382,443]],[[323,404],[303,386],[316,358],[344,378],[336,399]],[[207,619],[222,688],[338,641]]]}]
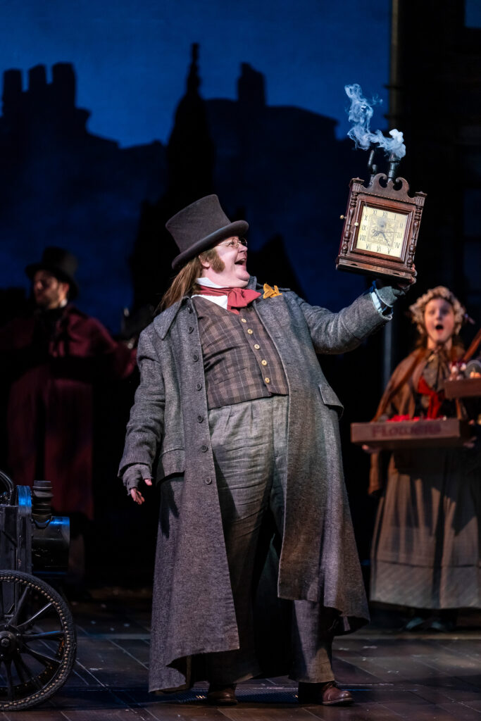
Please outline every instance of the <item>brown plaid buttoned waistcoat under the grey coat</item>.
[{"label": "brown plaid buttoned waistcoat under the grey coat", "polygon": [[253,304],[236,315],[201,296],[193,301],[209,409],[288,394],[281,358]]}]

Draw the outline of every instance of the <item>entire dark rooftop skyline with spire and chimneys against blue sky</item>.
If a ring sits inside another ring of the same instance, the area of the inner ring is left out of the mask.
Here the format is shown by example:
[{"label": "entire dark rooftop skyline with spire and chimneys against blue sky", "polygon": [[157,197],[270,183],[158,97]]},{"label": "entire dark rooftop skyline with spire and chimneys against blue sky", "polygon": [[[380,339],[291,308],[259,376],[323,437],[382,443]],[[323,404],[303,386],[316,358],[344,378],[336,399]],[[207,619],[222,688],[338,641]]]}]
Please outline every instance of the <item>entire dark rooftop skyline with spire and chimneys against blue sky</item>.
[{"label": "entire dark rooftop skyline with spire and chimneys against blue sky", "polygon": [[[337,141],[331,118],[267,105],[264,77],[249,63],[236,100],[204,100],[199,66],[194,43],[167,146],[128,149],[89,132],[70,63],[56,63],[50,82],[45,66],[31,68],[25,88],[21,71],[6,71],[0,230],[4,269],[16,275],[0,270],[0,286],[24,283],[23,267],[46,245],[66,247],[79,256],[79,305],[115,332],[124,306],[156,306],[167,288],[177,249],[165,221],[218,193],[232,219],[250,223],[261,280],[334,307],[363,289],[334,262],[348,182],[363,172],[364,154]],[[281,263],[261,252],[268,242]],[[284,272],[272,277],[274,265]]]}]

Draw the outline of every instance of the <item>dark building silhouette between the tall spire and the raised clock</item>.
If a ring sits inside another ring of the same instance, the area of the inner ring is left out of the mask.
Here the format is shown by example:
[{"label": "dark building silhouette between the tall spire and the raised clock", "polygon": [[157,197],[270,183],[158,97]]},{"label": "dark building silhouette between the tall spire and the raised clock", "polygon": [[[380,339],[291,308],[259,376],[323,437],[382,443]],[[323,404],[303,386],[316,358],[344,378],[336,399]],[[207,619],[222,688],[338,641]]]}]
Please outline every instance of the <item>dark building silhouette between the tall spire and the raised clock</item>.
[{"label": "dark building silhouette between the tall spire and the raised clock", "polygon": [[[367,156],[354,152],[351,141],[336,139],[332,118],[267,105],[263,76],[247,63],[238,92],[237,101],[207,102],[215,187],[226,207],[246,209],[252,250],[282,236],[286,263],[304,297],[339,309],[365,285],[360,276],[336,273],[335,257],[349,180],[366,174]],[[274,244],[270,249],[274,257]],[[262,270],[262,278],[277,283],[268,260]]]}]

